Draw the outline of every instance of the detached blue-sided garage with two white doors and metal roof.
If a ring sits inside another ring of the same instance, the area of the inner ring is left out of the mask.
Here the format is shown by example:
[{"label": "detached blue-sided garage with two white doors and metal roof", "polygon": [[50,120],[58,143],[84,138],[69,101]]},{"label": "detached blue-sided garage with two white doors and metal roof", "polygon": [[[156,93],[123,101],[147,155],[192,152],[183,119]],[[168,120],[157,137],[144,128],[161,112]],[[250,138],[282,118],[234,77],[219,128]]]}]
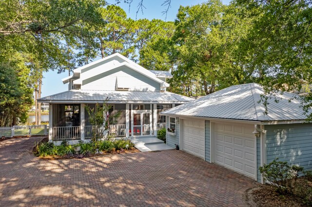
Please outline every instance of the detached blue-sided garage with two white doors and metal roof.
[{"label": "detached blue-sided garage with two white doors and metal roof", "polygon": [[[231,86],[162,112],[167,144],[263,182],[258,168],[275,158],[312,169],[312,124],[305,123],[292,93],[269,99],[268,114],[257,84]],[[288,100],[292,100],[289,102]]]}]

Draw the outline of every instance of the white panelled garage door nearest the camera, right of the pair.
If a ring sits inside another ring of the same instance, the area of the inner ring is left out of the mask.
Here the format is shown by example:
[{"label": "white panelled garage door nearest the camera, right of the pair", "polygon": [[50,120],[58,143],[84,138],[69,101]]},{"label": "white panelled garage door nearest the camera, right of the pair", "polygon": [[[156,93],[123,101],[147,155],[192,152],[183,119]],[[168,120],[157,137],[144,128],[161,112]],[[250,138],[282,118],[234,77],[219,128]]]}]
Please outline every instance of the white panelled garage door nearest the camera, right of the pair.
[{"label": "white panelled garage door nearest the camera, right of the pair", "polygon": [[253,125],[215,123],[215,163],[255,178],[256,138],[253,131]]}]

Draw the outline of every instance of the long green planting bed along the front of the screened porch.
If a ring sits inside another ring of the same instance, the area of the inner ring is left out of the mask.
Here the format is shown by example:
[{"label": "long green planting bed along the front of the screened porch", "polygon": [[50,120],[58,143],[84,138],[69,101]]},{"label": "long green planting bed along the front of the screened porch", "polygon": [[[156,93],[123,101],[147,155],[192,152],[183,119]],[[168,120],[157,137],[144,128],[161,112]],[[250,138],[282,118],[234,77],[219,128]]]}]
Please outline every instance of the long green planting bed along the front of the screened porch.
[{"label": "long green planting bed along the front of the screened porch", "polygon": [[63,141],[59,146],[48,142],[44,138],[39,143],[36,143],[33,152],[42,159],[69,159],[69,158],[84,158],[90,156],[100,156],[109,154],[124,154],[140,152],[134,147],[134,144],[129,139],[117,140],[97,140],[96,142],[83,142],[69,145],[67,141]]}]

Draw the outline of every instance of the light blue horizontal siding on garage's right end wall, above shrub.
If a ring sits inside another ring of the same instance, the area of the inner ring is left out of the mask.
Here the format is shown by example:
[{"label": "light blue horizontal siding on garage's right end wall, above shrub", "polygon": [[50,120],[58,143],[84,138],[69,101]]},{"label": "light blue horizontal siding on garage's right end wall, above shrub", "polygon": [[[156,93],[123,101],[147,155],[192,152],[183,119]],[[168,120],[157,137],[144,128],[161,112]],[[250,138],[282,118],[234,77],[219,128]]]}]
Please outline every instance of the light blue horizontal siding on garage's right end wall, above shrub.
[{"label": "light blue horizontal siding on garage's right end wall, above shrub", "polygon": [[267,163],[275,158],[312,170],[312,124],[266,125]]}]

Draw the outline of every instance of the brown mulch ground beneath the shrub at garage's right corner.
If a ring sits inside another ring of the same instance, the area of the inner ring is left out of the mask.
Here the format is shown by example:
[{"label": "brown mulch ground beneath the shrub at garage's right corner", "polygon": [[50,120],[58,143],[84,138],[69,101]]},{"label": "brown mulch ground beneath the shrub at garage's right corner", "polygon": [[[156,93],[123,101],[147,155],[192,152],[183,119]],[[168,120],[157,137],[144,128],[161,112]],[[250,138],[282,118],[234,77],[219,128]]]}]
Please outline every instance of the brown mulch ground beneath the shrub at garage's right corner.
[{"label": "brown mulch ground beneath the shrub at garage's right corner", "polygon": [[[304,177],[298,182],[304,182]],[[246,203],[251,207],[308,207],[303,201],[294,195],[280,195],[271,185],[262,185],[250,189],[245,194]]]}]

